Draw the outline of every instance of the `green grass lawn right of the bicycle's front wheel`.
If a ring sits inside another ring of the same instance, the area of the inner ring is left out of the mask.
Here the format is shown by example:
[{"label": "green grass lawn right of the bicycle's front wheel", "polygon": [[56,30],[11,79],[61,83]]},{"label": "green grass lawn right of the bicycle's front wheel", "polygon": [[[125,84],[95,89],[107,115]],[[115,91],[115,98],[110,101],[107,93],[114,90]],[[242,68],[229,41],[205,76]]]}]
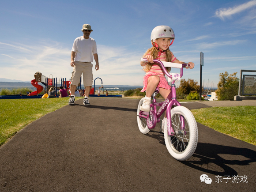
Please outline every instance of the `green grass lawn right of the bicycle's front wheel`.
[{"label": "green grass lawn right of the bicycle's front wheel", "polygon": [[256,145],[256,107],[211,107],[191,110],[197,122]]}]

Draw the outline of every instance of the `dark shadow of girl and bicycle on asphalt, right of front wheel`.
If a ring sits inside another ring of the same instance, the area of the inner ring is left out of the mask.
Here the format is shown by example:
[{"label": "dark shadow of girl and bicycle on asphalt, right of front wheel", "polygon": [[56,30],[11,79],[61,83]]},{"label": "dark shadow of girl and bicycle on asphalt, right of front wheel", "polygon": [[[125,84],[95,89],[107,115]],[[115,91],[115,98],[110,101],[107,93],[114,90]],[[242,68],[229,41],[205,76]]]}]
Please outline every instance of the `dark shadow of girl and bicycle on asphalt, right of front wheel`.
[{"label": "dark shadow of girl and bicycle on asphalt, right of front wheel", "polygon": [[237,175],[237,171],[228,165],[246,166],[251,162],[256,162],[256,151],[211,143],[198,143],[193,156],[181,163],[205,173],[225,176]]}]

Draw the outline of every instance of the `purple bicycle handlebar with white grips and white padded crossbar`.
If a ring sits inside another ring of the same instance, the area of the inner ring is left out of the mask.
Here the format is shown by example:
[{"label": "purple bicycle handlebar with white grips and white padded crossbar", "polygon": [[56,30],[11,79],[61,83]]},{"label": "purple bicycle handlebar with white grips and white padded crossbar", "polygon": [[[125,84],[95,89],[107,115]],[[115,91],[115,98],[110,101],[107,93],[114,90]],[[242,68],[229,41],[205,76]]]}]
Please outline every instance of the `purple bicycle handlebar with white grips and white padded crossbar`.
[{"label": "purple bicycle handlebar with white grips and white padded crossbar", "polygon": [[[148,62],[148,60],[146,58],[141,58],[141,61],[144,62]],[[161,61],[161,60],[157,60],[154,59],[153,60],[155,63],[160,64],[161,68],[163,69],[163,71],[165,72],[165,74],[169,77],[169,78],[173,78],[172,75],[170,75],[167,70],[166,67],[170,67],[170,68],[180,68],[181,69],[181,77],[183,76],[183,68],[189,68],[190,65],[189,64],[178,64],[178,63],[171,63],[171,62],[166,62],[166,61]]]}]

